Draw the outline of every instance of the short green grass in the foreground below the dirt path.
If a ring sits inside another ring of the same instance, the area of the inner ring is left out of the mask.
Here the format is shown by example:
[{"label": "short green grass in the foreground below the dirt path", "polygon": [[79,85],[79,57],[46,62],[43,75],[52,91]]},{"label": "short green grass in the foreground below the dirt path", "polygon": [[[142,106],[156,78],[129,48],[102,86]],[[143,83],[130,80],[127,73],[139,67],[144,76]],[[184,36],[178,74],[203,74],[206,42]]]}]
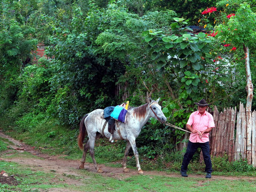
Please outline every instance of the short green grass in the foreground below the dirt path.
[{"label": "short green grass in the foreground below the dirt path", "polygon": [[19,182],[17,186],[0,184],[0,192],[41,192],[54,188],[72,192],[239,192],[255,191],[256,180],[208,180],[205,178],[182,178],[155,175],[135,175],[126,179],[104,177],[97,173],[77,170],[82,176],[66,175],[64,177],[77,180],[79,185],[68,185],[55,172],[45,173],[33,171],[30,167],[17,163],[0,161],[0,169]]}]

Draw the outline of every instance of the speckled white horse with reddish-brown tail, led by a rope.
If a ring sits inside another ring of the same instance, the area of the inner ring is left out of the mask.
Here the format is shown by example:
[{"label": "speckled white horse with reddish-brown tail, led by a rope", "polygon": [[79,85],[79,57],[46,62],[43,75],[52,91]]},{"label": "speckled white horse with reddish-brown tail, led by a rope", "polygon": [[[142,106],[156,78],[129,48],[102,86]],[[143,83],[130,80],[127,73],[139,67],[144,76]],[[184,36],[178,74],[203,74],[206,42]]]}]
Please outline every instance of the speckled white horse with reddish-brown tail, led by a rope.
[{"label": "speckled white horse with reddish-brown tail, led by a rope", "polygon": [[[130,148],[132,147],[134,151],[134,156],[136,159],[136,167],[138,169],[138,174],[143,174],[143,171],[140,168],[139,155],[135,143],[135,139],[138,137],[141,128],[149,120],[150,117],[158,119],[161,123],[166,122],[166,117],[164,116],[161,106],[158,105],[158,100],[154,101],[151,98],[147,99],[147,103],[136,107],[129,108],[126,118],[126,122],[117,122],[116,131],[113,134],[113,140],[126,140],[127,145],[124,152],[122,167],[123,172],[130,172],[126,168],[126,159],[129,154]],[[108,132],[108,123],[103,119],[103,109],[96,109],[88,114],[86,114],[80,122],[80,133],[78,135],[78,146],[81,150],[84,148],[81,165],[79,168],[85,168],[85,157],[88,149],[90,149],[90,155],[92,157],[94,168],[97,172],[103,172],[98,168],[95,157],[94,157],[94,144],[95,140],[101,137],[102,135],[110,138],[110,132]],[[86,129],[86,131],[85,131]],[[83,147],[83,141],[85,139],[85,134],[88,134],[89,140]]]}]

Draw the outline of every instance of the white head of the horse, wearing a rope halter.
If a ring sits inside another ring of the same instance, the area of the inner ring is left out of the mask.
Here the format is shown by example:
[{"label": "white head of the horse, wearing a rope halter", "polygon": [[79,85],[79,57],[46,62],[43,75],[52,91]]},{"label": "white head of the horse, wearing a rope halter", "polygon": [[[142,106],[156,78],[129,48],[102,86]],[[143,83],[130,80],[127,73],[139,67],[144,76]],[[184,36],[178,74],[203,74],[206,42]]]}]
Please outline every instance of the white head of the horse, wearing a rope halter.
[{"label": "white head of the horse, wearing a rope halter", "polygon": [[152,100],[150,97],[147,99],[147,102],[149,104],[151,117],[159,120],[161,123],[166,122],[166,117],[162,112],[162,107],[158,104],[160,98],[158,100]]}]

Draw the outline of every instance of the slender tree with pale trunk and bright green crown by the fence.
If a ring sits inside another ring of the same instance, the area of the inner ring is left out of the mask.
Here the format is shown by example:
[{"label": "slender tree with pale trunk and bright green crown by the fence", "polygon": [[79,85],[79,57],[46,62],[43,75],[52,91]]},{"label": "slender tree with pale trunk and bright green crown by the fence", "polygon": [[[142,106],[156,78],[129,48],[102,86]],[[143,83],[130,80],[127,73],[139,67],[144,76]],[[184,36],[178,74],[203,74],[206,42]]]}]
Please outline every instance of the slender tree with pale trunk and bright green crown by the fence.
[{"label": "slender tree with pale trunk and bright green crown by the fence", "polygon": [[216,30],[219,31],[219,39],[234,46],[232,49],[242,48],[244,50],[245,70],[246,70],[246,120],[247,120],[247,154],[248,163],[251,164],[251,130],[252,130],[252,100],[253,84],[250,69],[249,49],[255,48],[256,42],[256,14],[250,9],[247,3],[240,4],[237,12],[227,16],[228,22],[219,24]]}]

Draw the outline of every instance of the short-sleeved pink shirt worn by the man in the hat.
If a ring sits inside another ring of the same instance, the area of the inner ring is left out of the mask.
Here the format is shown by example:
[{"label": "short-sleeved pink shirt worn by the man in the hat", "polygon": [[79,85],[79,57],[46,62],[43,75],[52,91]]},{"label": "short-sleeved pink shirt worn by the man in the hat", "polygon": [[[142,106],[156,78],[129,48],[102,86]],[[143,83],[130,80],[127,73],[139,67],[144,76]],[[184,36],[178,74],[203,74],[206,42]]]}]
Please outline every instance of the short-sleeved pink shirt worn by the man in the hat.
[{"label": "short-sleeved pink shirt worn by the man in the hat", "polygon": [[[190,125],[192,129],[201,132],[210,127],[215,127],[213,117],[207,111],[205,111],[203,115],[201,115],[199,111],[191,113],[187,124]],[[206,143],[209,141],[209,133],[204,133],[201,139],[197,133],[190,133],[189,141],[192,143]]]}]

